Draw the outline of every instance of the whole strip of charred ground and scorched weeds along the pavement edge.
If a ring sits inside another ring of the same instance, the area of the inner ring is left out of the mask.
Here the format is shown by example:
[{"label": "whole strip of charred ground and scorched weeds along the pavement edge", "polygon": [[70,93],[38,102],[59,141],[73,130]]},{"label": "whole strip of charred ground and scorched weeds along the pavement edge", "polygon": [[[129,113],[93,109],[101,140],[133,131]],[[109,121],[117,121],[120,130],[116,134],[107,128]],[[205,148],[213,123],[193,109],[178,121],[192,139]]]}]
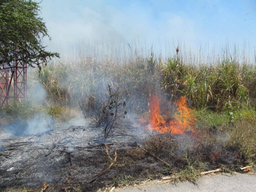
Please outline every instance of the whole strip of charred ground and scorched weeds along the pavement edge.
[{"label": "whole strip of charred ground and scorched weeds along the pavement edge", "polygon": [[[225,171],[230,171],[246,164],[238,148],[227,148],[228,142],[217,141],[220,132],[208,134],[212,138],[209,140],[200,137],[199,131],[198,135],[151,132],[146,136],[144,131],[130,126],[126,127],[124,136],[113,134],[106,141],[100,128],[73,126],[30,136],[1,138],[0,188],[2,191],[22,188],[40,191],[46,182],[49,187],[45,191],[96,191],[106,186],[140,184],[162,176],[172,176],[172,181],[176,182],[194,182],[202,170],[224,167]],[[97,177],[108,169],[114,152],[117,153],[114,166]],[[96,181],[89,183],[95,176]]]}]

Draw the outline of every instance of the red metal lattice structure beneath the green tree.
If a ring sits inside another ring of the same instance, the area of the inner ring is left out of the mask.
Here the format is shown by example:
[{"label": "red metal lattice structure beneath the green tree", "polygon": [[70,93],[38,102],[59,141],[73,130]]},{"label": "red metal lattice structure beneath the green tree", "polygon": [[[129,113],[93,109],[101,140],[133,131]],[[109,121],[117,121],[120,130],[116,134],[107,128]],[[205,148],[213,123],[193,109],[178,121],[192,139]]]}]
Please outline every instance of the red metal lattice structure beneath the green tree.
[{"label": "red metal lattice structure beneath the green tree", "polygon": [[[26,0],[23,0],[26,1]],[[10,66],[0,67],[0,108],[9,105],[10,100],[27,96],[27,64],[14,61]]]}]

